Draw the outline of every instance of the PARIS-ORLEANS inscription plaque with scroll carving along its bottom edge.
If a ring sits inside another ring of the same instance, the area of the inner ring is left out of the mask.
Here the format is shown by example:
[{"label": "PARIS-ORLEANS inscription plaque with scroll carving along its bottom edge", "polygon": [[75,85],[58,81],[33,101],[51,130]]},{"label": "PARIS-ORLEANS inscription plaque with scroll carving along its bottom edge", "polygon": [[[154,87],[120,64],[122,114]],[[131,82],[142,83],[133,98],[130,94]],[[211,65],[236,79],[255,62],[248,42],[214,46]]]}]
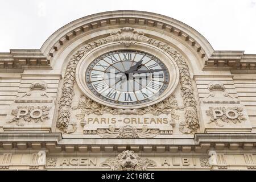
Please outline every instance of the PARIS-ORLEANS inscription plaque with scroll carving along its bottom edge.
[{"label": "PARIS-ORLEANS inscription plaque with scroll carving along its bottom edge", "polygon": [[[108,115],[108,114],[105,114]],[[152,138],[156,135],[172,134],[175,125],[167,116],[152,117],[97,117],[90,115],[82,122],[84,134],[97,134],[103,138]]]}]

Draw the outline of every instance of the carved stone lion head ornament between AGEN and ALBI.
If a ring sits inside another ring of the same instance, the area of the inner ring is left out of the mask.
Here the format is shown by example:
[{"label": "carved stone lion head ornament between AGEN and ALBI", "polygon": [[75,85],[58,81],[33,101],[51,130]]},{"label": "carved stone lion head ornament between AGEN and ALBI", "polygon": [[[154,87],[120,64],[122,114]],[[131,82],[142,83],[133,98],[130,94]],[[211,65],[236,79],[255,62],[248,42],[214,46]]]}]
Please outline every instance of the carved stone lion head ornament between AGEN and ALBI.
[{"label": "carved stone lion head ornament between AGEN and ALBI", "polygon": [[113,171],[145,171],[147,167],[155,167],[156,163],[150,159],[141,159],[134,151],[126,150],[116,158],[107,159],[100,166],[110,167]]}]

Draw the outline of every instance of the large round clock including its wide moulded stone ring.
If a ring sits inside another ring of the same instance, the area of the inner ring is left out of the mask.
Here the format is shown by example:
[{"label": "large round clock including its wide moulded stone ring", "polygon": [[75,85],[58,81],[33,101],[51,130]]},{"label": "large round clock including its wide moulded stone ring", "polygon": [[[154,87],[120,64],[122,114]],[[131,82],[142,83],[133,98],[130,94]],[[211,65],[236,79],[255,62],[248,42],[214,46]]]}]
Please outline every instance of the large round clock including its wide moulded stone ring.
[{"label": "large round clock including its wide moulded stone ring", "polygon": [[174,93],[179,68],[162,49],[139,42],[130,46],[114,42],[94,48],[81,58],[76,83],[84,96],[99,104],[99,109],[139,109]]}]

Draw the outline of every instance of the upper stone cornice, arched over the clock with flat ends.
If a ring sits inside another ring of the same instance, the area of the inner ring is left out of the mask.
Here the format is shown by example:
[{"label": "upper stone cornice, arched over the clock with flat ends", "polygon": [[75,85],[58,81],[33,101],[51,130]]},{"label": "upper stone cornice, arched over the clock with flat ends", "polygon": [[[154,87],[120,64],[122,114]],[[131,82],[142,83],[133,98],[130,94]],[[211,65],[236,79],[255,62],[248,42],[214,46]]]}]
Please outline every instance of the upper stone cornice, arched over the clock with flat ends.
[{"label": "upper stone cornice, arched over the clock with flat ends", "polygon": [[[77,36],[88,35],[102,28],[139,26],[163,32],[188,44],[204,62],[204,70],[243,70],[256,72],[256,55],[243,51],[214,51],[209,42],[196,30],[176,19],[144,11],[109,11],[77,19],[53,33],[40,50],[11,49],[0,53],[0,72],[23,69],[50,69],[51,61],[62,47]],[[137,27],[138,28],[138,27]],[[110,33],[110,32],[109,32]]]}]

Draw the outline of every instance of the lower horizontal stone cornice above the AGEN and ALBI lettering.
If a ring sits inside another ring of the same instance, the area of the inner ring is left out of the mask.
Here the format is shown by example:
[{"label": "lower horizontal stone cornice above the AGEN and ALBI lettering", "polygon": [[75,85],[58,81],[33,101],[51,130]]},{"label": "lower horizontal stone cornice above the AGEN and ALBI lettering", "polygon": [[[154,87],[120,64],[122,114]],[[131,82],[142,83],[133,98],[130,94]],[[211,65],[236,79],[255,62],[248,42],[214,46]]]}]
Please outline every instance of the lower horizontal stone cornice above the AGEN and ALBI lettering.
[{"label": "lower horizontal stone cornice above the AGEN and ALBI lettering", "polygon": [[[194,138],[119,139],[63,138],[61,133],[1,133],[0,150],[40,150],[50,152],[101,152],[134,150],[136,152],[206,152],[208,150],[256,150],[256,134],[196,133]],[[136,143],[136,144],[131,144]],[[157,145],[155,143],[158,143]],[[18,151],[17,150],[17,151]]]}]

